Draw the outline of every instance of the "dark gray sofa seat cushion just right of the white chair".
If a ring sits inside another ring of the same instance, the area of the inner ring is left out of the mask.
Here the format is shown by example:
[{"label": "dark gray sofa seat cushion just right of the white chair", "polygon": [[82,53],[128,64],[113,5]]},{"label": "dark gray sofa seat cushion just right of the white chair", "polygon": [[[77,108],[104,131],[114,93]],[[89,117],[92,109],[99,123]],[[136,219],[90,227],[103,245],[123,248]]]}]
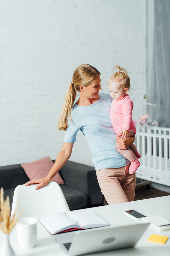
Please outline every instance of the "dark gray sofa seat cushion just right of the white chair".
[{"label": "dark gray sofa seat cushion just right of the white chair", "polygon": [[88,197],[85,193],[80,190],[70,188],[66,185],[61,185],[60,187],[68,203],[70,211],[87,207]]}]

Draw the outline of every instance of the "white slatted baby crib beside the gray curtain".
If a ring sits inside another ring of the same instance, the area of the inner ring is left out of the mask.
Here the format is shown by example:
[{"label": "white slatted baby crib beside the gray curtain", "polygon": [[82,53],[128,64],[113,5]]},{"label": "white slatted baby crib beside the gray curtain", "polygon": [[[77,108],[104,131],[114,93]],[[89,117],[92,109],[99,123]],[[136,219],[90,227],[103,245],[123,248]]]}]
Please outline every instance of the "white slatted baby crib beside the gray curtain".
[{"label": "white slatted baby crib beside the gray curtain", "polygon": [[170,128],[137,128],[134,144],[141,154],[136,177],[170,186]]}]

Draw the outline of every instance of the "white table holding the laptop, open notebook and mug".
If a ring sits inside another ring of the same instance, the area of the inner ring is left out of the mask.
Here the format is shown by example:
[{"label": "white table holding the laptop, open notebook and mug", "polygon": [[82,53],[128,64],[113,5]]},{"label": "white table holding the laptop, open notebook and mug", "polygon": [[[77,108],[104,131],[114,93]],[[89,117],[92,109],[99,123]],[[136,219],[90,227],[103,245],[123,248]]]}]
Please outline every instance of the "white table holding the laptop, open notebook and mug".
[{"label": "white table holding the laptop, open notebook and mug", "polygon": [[[103,219],[108,221],[109,224],[115,226],[124,226],[136,223],[139,221],[131,216],[124,214],[125,210],[136,210],[143,215],[161,215],[170,219],[170,196],[151,198],[145,200],[139,200],[134,202],[127,202],[115,205],[105,205],[94,208],[83,209],[83,211],[94,211]],[[78,210],[82,211],[82,210]],[[16,255],[27,255],[27,256],[64,256],[66,255],[55,242],[54,236],[50,235],[49,232],[39,223],[37,224],[37,243],[36,246],[29,250],[21,250],[18,245],[16,238],[15,228],[10,234],[10,242],[16,253]],[[167,242],[162,244],[149,243],[147,239],[151,234],[165,235],[169,237]],[[0,250],[2,246],[2,232],[0,232]],[[126,248],[122,250],[101,252],[93,255],[100,256],[169,256],[170,255],[170,230],[160,232],[153,226],[149,226],[146,232],[142,235],[135,247]]]}]

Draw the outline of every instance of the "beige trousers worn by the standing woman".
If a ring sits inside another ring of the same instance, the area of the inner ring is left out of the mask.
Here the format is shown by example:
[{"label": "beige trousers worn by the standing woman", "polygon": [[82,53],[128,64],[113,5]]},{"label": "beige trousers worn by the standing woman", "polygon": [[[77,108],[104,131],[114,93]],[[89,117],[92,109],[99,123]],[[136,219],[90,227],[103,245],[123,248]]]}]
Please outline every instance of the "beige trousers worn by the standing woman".
[{"label": "beige trousers worn by the standing woman", "polygon": [[129,165],[120,168],[97,170],[96,175],[102,194],[108,204],[133,201],[135,173],[129,174]]}]

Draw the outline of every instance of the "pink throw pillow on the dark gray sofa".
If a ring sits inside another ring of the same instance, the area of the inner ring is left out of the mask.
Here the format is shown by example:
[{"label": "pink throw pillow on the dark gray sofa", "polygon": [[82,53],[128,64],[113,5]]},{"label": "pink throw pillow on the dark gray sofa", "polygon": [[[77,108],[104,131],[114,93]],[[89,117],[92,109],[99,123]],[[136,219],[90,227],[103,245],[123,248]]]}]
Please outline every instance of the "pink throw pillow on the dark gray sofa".
[{"label": "pink throw pillow on the dark gray sofa", "polygon": [[[34,160],[29,163],[21,164],[22,168],[26,172],[30,180],[45,178],[51,168],[53,167],[53,161],[50,157],[44,157],[38,160]],[[58,185],[64,185],[64,180],[62,179],[60,173],[57,173],[51,181],[55,181]]]}]

